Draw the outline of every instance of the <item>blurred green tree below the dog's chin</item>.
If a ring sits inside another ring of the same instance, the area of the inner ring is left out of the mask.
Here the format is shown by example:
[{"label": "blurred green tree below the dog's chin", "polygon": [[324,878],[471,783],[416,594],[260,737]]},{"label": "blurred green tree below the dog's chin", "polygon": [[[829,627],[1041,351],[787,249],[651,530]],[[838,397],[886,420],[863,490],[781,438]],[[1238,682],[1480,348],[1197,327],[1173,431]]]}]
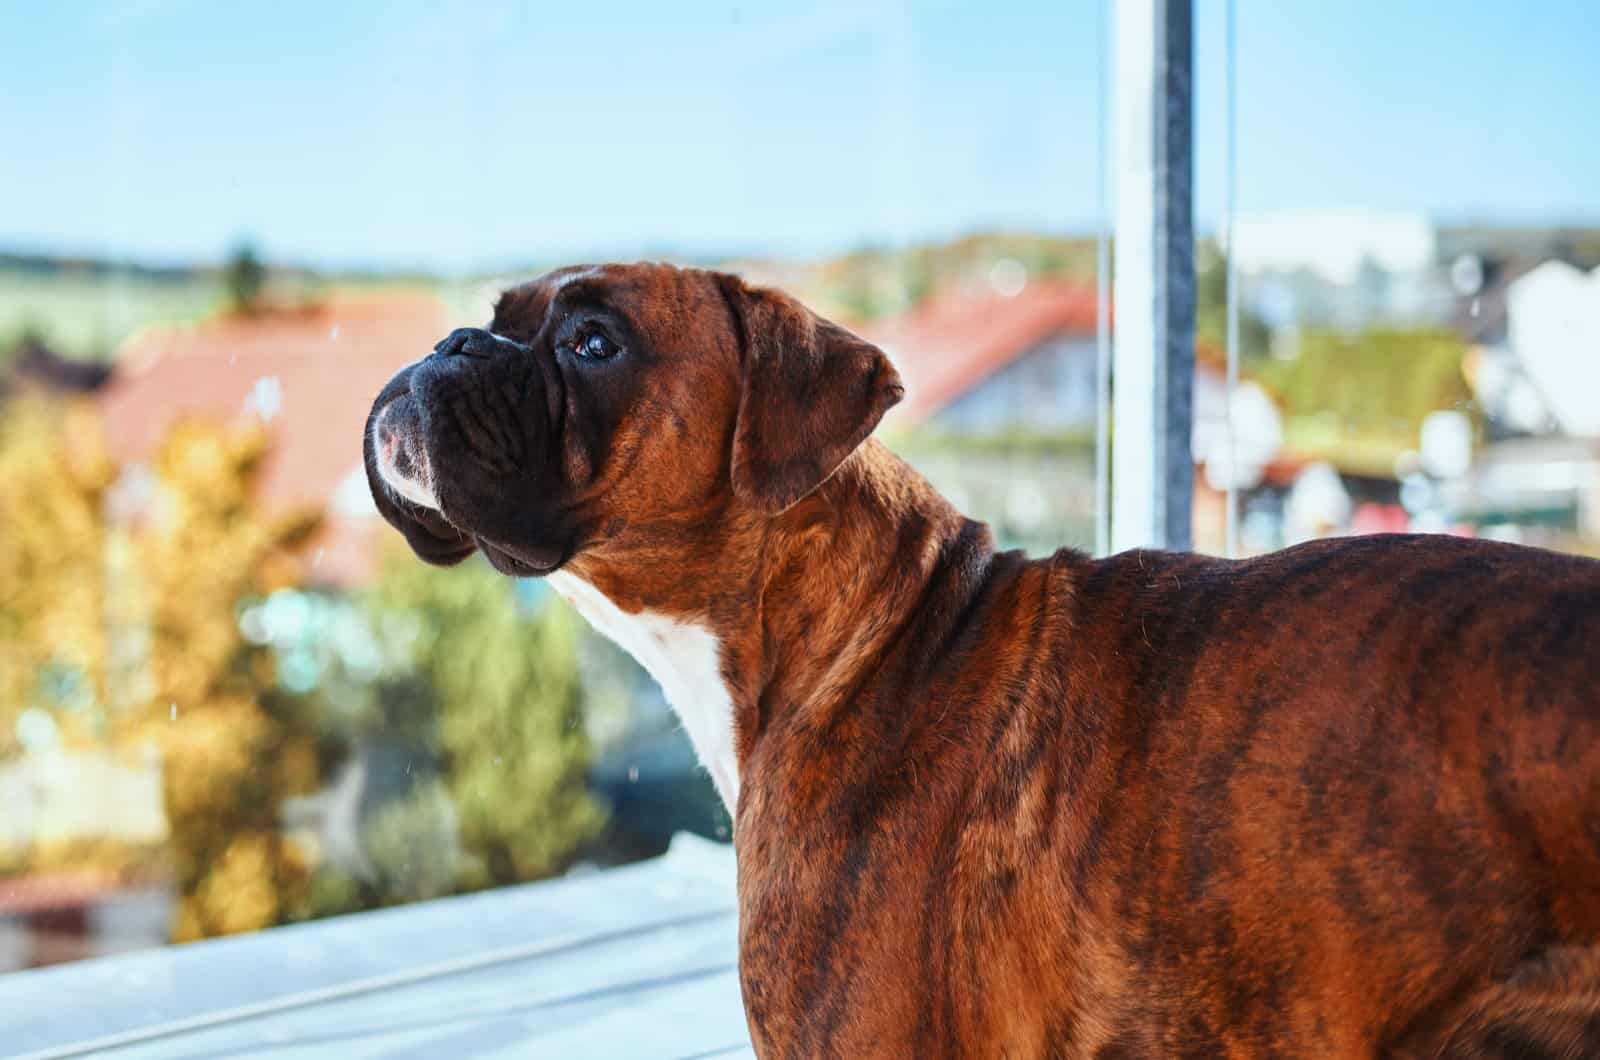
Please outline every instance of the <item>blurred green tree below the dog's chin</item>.
[{"label": "blurred green tree below the dog's chin", "polygon": [[[426,749],[437,756],[459,829],[458,887],[566,868],[603,823],[587,789],[576,620],[528,602],[483,560],[440,570],[400,549],[365,602],[373,626],[389,631],[386,714],[408,716],[413,730],[419,714],[434,719]],[[437,815],[427,802],[416,813],[424,823]],[[398,844],[395,823],[386,828]]]}]

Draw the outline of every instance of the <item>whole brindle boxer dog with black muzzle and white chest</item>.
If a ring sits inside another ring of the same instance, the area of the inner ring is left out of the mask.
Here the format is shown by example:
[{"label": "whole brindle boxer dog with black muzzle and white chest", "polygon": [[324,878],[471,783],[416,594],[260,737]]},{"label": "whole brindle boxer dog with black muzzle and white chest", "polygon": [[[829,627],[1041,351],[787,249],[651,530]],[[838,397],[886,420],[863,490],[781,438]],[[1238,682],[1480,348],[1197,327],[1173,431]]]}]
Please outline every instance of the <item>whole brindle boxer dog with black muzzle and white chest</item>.
[{"label": "whole brindle boxer dog with black muzzle and white chest", "polygon": [[1600,564],[997,552],[874,346],[562,269],[378,395],[379,511],[544,576],[734,815],[763,1057],[1600,1055]]}]

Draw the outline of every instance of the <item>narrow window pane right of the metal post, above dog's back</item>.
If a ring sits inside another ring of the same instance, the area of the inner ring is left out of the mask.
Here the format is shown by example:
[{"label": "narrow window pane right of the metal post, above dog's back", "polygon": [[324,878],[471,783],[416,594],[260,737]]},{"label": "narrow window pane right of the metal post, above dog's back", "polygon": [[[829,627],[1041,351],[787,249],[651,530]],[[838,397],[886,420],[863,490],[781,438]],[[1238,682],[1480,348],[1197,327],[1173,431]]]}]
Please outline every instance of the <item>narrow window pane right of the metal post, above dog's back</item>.
[{"label": "narrow window pane right of the metal post, above dog's back", "polygon": [[[1197,540],[1389,530],[1600,548],[1600,197],[1582,3],[1197,6]],[[1210,368],[1208,368],[1210,365]],[[1234,450],[1235,476],[1226,474]]]}]

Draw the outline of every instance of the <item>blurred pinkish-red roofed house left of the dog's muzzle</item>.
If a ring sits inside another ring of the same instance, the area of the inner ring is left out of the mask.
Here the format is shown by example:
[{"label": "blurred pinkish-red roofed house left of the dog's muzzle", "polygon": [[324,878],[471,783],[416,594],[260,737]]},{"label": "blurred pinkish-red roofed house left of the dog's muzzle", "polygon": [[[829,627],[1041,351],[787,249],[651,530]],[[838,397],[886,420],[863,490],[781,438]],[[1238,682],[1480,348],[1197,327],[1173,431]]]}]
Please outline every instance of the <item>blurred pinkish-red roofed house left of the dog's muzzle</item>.
[{"label": "blurred pinkish-red roofed house left of the dog's muzzle", "polygon": [[98,402],[133,487],[139,461],[179,418],[264,423],[274,445],[262,500],[325,509],[310,576],[347,583],[366,570],[378,525],[362,469],[373,395],[448,330],[445,304],[419,290],[341,291],[306,309],[155,327],[123,344]]}]

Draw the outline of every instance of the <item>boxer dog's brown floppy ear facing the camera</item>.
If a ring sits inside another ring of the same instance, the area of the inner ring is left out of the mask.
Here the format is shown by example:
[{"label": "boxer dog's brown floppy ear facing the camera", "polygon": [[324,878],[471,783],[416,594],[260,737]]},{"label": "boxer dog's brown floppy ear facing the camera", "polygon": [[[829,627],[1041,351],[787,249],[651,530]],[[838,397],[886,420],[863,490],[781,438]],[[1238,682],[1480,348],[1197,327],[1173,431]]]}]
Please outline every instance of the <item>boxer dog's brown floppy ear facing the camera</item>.
[{"label": "boxer dog's brown floppy ear facing the camera", "polygon": [[822,485],[906,387],[882,349],[794,298],[734,275],[717,282],[744,363],[733,492],[778,514]]}]

